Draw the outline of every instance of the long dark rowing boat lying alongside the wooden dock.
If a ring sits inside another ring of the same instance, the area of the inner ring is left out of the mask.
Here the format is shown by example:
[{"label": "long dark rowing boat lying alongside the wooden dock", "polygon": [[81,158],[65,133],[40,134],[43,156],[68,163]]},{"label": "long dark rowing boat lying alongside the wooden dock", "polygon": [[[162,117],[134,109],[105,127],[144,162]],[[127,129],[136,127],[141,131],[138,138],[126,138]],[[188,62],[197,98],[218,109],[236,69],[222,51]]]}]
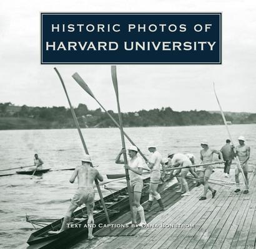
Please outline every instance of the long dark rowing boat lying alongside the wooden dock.
[{"label": "long dark rowing boat lying alongside the wooden dock", "polygon": [[[148,197],[150,178],[144,179],[144,187],[142,189],[142,202]],[[161,187],[162,188],[162,187]],[[111,222],[120,215],[126,213],[129,210],[129,196],[127,187],[118,190],[113,194],[104,197],[104,202],[109,213]],[[87,210],[86,207],[77,210],[72,215],[70,227],[61,233],[51,235],[49,231],[59,230],[62,225],[63,218],[53,222],[46,227],[43,227],[36,232],[32,233],[27,243],[29,246],[27,249],[46,249],[46,248],[66,248],[74,242],[79,241],[79,237],[87,237]],[[95,202],[94,207],[94,232],[101,229],[102,225],[107,224],[104,210],[102,209],[101,200]],[[71,227],[72,226],[72,227]]]}]

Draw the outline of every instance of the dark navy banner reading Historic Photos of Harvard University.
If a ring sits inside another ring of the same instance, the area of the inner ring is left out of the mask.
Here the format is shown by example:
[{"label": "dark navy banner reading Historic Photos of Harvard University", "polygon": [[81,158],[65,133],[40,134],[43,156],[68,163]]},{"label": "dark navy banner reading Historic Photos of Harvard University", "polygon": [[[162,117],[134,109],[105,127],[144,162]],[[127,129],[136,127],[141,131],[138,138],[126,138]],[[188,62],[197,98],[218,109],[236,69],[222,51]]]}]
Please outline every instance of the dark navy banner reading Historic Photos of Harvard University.
[{"label": "dark navy banner reading Historic Photos of Harvard University", "polygon": [[221,13],[41,13],[42,64],[221,64]]}]

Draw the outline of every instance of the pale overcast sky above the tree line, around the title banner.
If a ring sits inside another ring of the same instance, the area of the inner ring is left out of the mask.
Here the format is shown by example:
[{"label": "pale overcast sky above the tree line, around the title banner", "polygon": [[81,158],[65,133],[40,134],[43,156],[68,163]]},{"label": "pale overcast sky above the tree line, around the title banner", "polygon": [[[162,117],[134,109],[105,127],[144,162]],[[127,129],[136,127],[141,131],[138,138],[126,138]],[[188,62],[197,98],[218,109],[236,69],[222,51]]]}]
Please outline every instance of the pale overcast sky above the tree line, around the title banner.
[{"label": "pale overcast sky above the tree line, around the title banner", "polygon": [[[222,12],[222,65],[117,65],[122,111],[170,106],[175,111],[256,113],[255,1],[1,1],[0,102],[68,106],[54,65],[40,65],[40,12]],[[110,65],[57,65],[72,104],[99,106],[71,78],[78,72],[107,110],[116,111]]]}]

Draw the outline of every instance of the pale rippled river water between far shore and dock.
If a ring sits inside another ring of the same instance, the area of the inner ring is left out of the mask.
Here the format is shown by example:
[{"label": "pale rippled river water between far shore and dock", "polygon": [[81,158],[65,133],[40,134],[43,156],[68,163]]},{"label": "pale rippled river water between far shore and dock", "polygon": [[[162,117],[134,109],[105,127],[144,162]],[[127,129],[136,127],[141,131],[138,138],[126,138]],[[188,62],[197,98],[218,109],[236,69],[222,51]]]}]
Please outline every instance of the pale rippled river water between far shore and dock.
[{"label": "pale rippled river water between far shore and dock", "polygon": [[[229,129],[235,144],[240,135],[245,136],[246,144],[251,147],[250,165],[256,165],[256,125],[231,125]],[[153,143],[165,157],[170,152],[193,153],[197,162],[202,139],[207,139],[210,147],[220,149],[228,138],[225,126],[126,128],[125,131],[147,156],[147,144]],[[82,133],[94,166],[102,174],[124,172],[122,166],[114,163],[121,149],[119,129],[82,129]],[[0,138],[0,169],[34,164],[35,153],[44,161],[44,167],[51,169],[75,167],[84,156],[76,129],[0,131]],[[76,184],[69,183],[71,174],[72,171],[54,171],[44,174],[42,179],[30,179],[26,175],[0,177],[0,248],[26,244],[34,232],[32,225],[26,222],[26,214],[35,218],[64,216],[76,191]],[[124,182],[115,185],[121,187]],[[102,193],[110,194],[103,188]]]}]

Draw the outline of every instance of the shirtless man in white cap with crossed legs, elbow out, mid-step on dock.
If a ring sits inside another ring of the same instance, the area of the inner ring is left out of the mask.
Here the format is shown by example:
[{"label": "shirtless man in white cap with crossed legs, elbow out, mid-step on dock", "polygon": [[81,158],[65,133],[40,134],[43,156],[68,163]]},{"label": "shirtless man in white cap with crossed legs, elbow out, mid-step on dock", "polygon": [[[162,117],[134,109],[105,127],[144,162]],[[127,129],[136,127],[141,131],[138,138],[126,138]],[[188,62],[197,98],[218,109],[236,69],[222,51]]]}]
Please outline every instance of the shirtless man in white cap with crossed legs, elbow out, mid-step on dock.
[{"label": "shirtless man in white cap with crossed legs, elbow out, mid-step on dock", "polygon": [[[202,164],[212,162],[212,157],[214,156],[214,153],[218,154],[220,160],[223,161],[222,153],[220,151],[217,151],[216,149],[209,148],[209,144],[206,140],[203,140],[201,142],[201,147],[202,149],[200,151],[200,159],[202,160],[201,162]],[[201,179],[201,182],[204,184],[204,195],[200,197],[199,200],[206,200],[208,189],[212,192],[212,198],[214,198],[216,194],[216,190],[212,189],[212,187],[209,186],[209,179],[210,179],[210,175],[212,174],[213,168],[214,167],[212,165],[209,165],[202,168],[200,171],[199,177]]]}]

